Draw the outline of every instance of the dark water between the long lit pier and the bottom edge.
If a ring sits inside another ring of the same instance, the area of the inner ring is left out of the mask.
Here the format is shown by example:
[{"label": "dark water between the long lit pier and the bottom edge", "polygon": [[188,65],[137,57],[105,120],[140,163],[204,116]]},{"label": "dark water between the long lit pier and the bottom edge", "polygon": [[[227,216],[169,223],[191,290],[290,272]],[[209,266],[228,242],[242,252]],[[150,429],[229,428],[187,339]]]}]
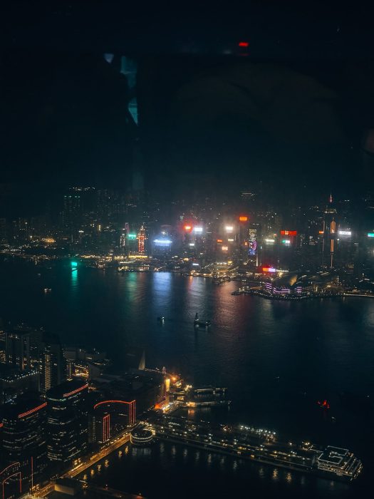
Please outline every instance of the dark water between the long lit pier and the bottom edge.
[{"label": "dark water between the long lit pier and the bottom edge", "polygon": [[[209,451],[189,452],[189,450],[179,444],[157,441],[149,448],[132,447],[128,455],[123,453],[122,458],[118,453],[113,453],[110,456],[110,467],[100,466],[98,473],[94,473],[91,469],[90,474],[85,473],[84,479],[98,485],[110,483],[112,488],[132,493],[137,493],[137,489],[141,486],[142,493],[146,497],[155,499],[173,497],[175,487],[178,488],[178,498],[191,497],[192,492],[196,498],[207,495],[210,497],[214,494],[218,494],[217,497],[223,497],[225,494],[232,496],[230,494],[239,493],[241,486],[246,483],[251,484],[252,495],[264,495],[267,491],[269,497],[273,497],[270,494],[274,494],[275,497],[284,493],[292,499],[355,497],[350,495],[350,487],[344,483],[321,480],[302,473],[291,473],[284,468],[264,466]],[[145,470],[147,470],[146,482]],[[152,485],[152,480],[157,481],[164,473],[167,473],[167,480],[163,482],[161,491]],[[194,477],[192,481],[186,480],[186,477],[192,476]],[[179,488],[180,483],[184,483],[182,489]],[[199,490],[193,488],[193,483],[199,483]]]}]

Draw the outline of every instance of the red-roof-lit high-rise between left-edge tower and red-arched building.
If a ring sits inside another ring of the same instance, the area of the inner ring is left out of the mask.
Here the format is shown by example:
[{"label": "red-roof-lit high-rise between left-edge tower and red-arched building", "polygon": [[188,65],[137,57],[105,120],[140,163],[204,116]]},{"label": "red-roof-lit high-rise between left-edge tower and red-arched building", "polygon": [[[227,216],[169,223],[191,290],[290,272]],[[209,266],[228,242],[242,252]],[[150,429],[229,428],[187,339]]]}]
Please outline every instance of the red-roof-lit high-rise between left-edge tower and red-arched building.
[{"label": "red-roof-lit high-rise between left-edge tower and red-arched building", "polygon": [[48,458],[71,463],[87,450],[88,383],[80,379],[65,381],[46,393],[48,402]]}]

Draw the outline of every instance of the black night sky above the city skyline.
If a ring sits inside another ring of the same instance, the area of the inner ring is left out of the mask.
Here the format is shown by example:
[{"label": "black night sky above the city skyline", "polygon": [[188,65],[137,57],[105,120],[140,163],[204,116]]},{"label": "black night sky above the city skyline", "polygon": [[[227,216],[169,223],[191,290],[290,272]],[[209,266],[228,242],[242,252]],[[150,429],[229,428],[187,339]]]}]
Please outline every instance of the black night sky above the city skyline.
[{"label": "black night sky above the city skyline", "polygon": [[[130,185],[137,133],[115,63],[124,54],[139,64],[148,187],[368,184],[374,67],[365,9],[254,3],[248,13],[172,19],[95,5],[9,6],[1,184]],[[241,40],[248,51],[238,50]]]}]

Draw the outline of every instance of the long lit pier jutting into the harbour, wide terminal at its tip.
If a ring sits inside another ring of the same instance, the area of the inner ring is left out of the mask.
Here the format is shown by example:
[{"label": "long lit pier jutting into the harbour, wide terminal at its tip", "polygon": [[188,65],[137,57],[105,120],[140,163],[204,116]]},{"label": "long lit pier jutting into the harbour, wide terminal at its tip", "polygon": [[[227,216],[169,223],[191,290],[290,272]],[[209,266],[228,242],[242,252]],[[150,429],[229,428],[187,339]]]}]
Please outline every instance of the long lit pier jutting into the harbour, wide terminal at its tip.
[{"label": "long lit pier jutting into the harbour, wide terminal at its tip", "polygon": [[157,438],[329,480],[353,480],[363,468],[361,461],[347,449],[320,447],[310,442],[282,443],[274,431],[264,428],[195,422],[165,414],[152,416],[147,423],[155,429]]}]

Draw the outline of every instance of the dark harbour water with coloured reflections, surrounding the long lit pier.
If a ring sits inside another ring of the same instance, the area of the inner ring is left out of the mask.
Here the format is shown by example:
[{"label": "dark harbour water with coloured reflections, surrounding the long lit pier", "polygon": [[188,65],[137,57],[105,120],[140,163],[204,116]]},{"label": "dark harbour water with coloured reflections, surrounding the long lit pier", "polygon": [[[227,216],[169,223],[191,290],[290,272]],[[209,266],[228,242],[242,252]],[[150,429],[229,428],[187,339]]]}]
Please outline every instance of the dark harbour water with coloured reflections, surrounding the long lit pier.
[{"label": "dark harbour water with coloured reflections, surrounding the long lit pier", "polygon": [[[147,366],[166,366],[192,384],[227,386],[229,411],[192,417],[348,447],[365,465],[352,487],[157,443],[122,458],[113,455],[93,480],[149,498],[224,497],[243,487],[269,497],[364,496],[373,466],[373,415],[342,406],[338,393],[374,398],[374,299],[271,302],[232,296],[236,282],[216,286],[177,274],[84,267],[71,272],[61,262],[51,269],[6,262],[0,272],[4,321],[23,320],[57,332],[66,344],[105,349],[118,368],[129,346],[144,346]],[[52,292],[44,294],[44,287]],[[209,331],[194,330],[196,312],[212,321]],[[157,323],[159,315],[165,324]],[[316,403],[324,398],[330,411]]]}]

